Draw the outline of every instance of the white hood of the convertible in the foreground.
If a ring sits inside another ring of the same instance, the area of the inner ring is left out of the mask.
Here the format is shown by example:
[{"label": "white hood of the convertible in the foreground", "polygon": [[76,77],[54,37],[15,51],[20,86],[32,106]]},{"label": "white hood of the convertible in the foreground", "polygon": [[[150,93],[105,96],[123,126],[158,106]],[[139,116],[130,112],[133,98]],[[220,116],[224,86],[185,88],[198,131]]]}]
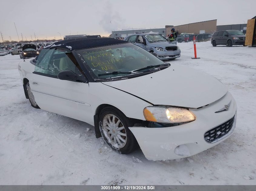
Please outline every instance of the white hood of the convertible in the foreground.
[{"label": "white hood of the convertible in the foreground", "polygon": [[213,103],[227,93],[227,88],[217,78],[182,65],[171,65],[137,78],[102,83],[154,105],[188,108]]}]

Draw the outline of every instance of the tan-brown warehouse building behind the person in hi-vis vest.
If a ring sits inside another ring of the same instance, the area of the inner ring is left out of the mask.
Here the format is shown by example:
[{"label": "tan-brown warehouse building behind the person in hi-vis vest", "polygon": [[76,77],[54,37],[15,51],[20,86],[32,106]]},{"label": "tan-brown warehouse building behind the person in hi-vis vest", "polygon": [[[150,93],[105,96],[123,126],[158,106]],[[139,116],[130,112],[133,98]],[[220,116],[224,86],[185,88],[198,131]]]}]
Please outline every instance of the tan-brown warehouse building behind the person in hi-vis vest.
[{"label": "tan-brown warehouse building behind the person in hi-vis vest", "polygon": [[167,36],[171,33],[171,29],[180,33],[190,33],[190,34],[199,34],[199,33],[214,33],[217,28],[217,19],[210,21],[201,21],[196,23],[182,24],[178,26],[165,26]]}]

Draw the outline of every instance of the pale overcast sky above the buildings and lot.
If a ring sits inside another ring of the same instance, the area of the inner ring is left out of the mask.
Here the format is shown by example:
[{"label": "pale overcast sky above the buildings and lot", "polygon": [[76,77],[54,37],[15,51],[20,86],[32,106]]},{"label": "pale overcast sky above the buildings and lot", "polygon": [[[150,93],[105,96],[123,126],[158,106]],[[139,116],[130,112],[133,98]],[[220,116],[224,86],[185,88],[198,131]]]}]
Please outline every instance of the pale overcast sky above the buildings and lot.
[{"label": "pale overcast sky above the buildings and lot", "polygon": [[23,40],[59,39],[59,33],[62,38],[69,33],[109,36],[111,30],[213,19],[217,25],[243,24],[256,16],[256,0],[1,0],[0,5],[4,40],[21,40],[21,33]]}]

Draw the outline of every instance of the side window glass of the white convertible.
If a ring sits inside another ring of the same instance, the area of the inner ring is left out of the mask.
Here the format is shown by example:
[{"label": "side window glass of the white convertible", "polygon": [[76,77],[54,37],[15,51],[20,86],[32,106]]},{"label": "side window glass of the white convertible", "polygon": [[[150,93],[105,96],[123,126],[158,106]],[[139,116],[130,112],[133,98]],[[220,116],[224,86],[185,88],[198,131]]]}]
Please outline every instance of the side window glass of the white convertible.
[{"label": "side window glass of the white convertible", "polygon": [[78,73],[74,62],[75,58],[70,51],[50,49],[38,61],[38,65],[35,66],[35,72],[52,76],[57,76],[59,72],[64,70],[71,70],[72,72]]}]

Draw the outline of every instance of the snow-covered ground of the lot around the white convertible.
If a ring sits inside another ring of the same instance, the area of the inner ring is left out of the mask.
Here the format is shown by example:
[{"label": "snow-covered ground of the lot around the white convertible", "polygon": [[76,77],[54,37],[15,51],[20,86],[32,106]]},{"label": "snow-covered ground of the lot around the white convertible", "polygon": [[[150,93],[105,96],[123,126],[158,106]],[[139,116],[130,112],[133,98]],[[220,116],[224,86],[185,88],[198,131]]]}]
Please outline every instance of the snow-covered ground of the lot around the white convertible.
[{"label": "snow-covered ground of the lot around the white convertible", "polygon": [[[87,123],[34,109],[25,99],[18,55],[0,57],[0,184],[256,184],[256,48],[178,43],[186,65],[218,78],[238,105],[234,134],[189,158],[148,161],[141,150],[112,151]],[[178,80],[178,79],[177,79]]]}]

